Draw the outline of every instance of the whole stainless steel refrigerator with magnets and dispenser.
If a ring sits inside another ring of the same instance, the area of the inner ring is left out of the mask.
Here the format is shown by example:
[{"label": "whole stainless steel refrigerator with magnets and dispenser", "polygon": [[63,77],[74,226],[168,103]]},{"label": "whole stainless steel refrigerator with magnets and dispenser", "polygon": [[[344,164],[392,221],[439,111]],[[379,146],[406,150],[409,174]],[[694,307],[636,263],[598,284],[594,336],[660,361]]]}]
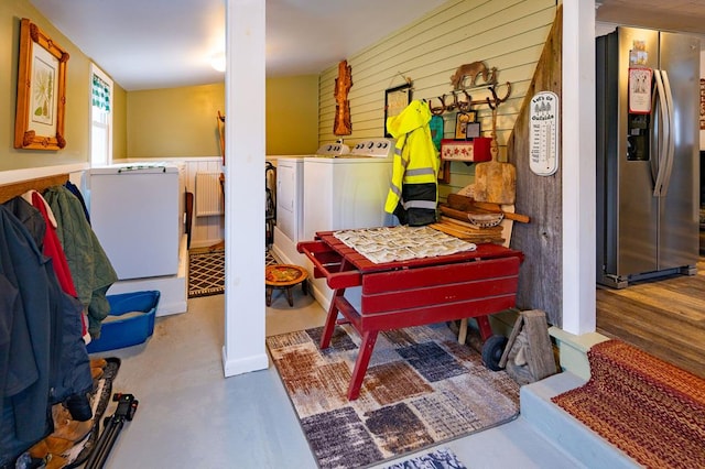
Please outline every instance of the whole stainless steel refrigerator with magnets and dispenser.
[{"label": "whole stainless steel refrigerator with magnets and dispenser", "polygon": [[618,28],[596,43],[597,282],[695,274],[699,40]]}]

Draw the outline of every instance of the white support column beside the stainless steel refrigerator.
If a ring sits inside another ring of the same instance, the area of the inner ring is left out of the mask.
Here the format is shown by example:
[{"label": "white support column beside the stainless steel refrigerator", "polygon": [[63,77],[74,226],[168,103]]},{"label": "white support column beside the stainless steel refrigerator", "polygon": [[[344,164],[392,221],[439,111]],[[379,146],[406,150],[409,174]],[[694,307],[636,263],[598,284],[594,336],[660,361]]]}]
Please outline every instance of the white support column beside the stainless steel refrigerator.
[{"label": "white support column beside the stainless steel refrigerator", "polygon": [[595,331],[595,2],[563,1],[563,330]]}]

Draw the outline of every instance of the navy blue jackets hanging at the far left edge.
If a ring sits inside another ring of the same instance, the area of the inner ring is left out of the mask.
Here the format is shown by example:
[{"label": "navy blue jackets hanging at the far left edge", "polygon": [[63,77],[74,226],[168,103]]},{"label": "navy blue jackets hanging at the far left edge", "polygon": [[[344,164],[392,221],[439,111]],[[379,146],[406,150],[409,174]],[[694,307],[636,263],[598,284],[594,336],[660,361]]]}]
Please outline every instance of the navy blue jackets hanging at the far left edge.
[{"label": "navy blue jackets hanging at the far left edge", "polygon": [[[46,223],[21,197],[0,206],[0,466],[51,433],[51,406],[90,418],[93,388],[77,298],[42,253]],[[4,353],[7,351],[7,353]]]}]

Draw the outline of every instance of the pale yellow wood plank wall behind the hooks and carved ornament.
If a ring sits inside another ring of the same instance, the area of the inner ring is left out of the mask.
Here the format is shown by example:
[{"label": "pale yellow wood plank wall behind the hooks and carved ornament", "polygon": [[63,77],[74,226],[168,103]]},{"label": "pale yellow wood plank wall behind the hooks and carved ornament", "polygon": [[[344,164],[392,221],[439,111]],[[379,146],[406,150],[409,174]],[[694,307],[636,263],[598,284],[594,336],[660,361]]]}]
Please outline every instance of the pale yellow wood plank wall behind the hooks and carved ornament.
[{"label": "pale yellow wood plank wall behind the hooks and carved ornament", "polygon": [[[486,62],[497,67],[500,83],[511,83],[510,98],[499,107],[497,127],[500,160],[507,161],[511,134],[536,63],[556,11],[556,0],[452,0],[419,21],[347,59],[352,68],[348,98],[355,143],[383,137],[384,89],[413,80],[413,98],[434,101],[453,89],[451,76],[463,64]],[[332,64],[319,78],[319,144],[336,141],[334,86],[338,67]],[[502,91],[500,88],[499,91]],[[501,95],[501,92],[500,92]],[[473,91],[484,99],[487,91]],[[477,109],[482,134],[489,137],[491,111]],[[445,137],[455,133],[456,112],[446,112]],[[474,165],[453,162],[451,183],[441,186],[441,196],[458,192],[474,181]]]}]

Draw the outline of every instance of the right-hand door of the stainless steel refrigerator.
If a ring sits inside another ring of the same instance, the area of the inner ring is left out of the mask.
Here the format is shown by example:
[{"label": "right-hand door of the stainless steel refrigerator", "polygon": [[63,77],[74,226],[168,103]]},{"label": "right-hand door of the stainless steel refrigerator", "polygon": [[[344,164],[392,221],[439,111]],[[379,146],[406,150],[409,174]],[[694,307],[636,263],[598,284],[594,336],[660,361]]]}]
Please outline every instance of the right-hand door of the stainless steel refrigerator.
[{"label": "right-hand door of the stainless steel refrigerator", "polygon": [[659,198],[658,269],[695,266],[699,252],[699,40],[662,32],[659,68],[673,97],[674,152]]}]

